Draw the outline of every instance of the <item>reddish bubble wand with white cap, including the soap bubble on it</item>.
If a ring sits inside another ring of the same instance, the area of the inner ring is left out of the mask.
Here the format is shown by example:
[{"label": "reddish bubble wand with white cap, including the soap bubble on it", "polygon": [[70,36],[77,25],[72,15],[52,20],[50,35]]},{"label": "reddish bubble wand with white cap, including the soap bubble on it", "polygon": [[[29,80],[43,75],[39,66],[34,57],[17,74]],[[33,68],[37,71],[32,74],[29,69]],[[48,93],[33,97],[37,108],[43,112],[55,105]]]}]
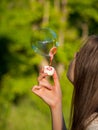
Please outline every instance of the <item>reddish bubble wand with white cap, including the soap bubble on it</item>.
[{"label": "reddish bubble wand with white cap, including the soap bubble on it", "polygon": [[31,45],[34,52],[47,57],[49,59],[49,66],[44,66],[44,73],[53,75],[54,68],[51,66],[54,55],[57,52],[59,43],[56,33],[49,28],[42,28],[33,33],[35,37],[32,39]]}]

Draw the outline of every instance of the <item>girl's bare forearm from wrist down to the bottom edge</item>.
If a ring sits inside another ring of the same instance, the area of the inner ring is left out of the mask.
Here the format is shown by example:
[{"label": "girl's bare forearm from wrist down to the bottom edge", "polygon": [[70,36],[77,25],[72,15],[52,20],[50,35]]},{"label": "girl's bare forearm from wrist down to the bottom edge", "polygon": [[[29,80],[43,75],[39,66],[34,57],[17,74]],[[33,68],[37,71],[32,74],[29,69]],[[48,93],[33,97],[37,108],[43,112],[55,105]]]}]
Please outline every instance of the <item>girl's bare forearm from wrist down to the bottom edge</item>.
[{"label": "girl's bare forearm from wrist down to the bottom edge", "polygon": [[67,130],[62,114],[62,106],[57,105],[55,108],[51,109],[52,117],[52,130]]}]

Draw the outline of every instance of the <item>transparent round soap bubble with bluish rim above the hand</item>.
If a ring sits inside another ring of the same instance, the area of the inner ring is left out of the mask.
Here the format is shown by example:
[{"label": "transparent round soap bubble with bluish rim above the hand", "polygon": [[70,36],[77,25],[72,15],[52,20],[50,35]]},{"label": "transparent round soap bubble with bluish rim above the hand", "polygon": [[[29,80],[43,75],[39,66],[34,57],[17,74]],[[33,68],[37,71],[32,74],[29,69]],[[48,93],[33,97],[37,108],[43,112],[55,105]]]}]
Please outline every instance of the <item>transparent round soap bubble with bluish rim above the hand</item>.
[{"label": "transparent round soap bubble with bluish rim above the hand", "polygon": [[31,47],[35,53],[49,57],[51,48],[58,46],[57,35],[50,28],[42,28],[33,32]]}]

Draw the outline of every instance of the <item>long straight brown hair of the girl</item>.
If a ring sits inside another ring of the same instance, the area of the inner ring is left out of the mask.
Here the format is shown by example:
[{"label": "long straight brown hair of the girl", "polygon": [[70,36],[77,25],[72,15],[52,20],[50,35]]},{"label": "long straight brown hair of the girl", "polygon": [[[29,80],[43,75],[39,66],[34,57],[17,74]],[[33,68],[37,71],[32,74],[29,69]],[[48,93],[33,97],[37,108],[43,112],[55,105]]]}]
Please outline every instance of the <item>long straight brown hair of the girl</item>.
[{"label": "long straight brown hair of the girl", "polygon": [[[71,130],[85,130],[85,121],[98,112],[98,36],[90,36],[76,56]],[[89,122],[90,123],[90,122]]]}]

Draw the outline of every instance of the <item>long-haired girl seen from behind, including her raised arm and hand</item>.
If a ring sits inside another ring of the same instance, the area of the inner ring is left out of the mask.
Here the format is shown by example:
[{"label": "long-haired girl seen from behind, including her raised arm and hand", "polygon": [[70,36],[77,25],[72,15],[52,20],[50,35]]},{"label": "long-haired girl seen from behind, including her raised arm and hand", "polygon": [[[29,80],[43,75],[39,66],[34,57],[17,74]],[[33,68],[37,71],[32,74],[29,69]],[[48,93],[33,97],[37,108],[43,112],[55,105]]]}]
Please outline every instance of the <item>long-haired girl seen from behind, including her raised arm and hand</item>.
[{"label": "long-haired girl seen from behind, including her raised arm and hand", "polygon": [[[90,36],[69,65],[67,77],[74,86],[70,130],[98,130],[98,36]],[[54,85],[40,72],[32,91],[50,107],[53,130],[66,130],[62,93],[56,71]]]}]

